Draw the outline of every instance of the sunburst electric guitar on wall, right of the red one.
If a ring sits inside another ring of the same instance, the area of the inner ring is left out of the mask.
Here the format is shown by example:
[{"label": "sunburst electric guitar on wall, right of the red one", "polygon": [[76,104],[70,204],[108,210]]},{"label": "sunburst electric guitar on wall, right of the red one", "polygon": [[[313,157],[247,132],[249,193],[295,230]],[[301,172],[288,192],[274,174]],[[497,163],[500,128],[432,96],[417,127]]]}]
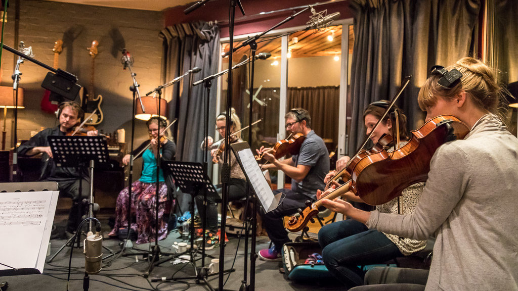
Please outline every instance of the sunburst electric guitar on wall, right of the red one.
[{"label": "sunburst electric guitar on wall, right of the red one", "polygon": [[92,72],[90,75],[90,85],[87,91],[87,98],[84,98],[84,92],[80,92],[80,98],[81,98],[81,106],[84,109],[84,116],[89,116],[95,109],[97,109],[97,112],[92,115],[90,120],[88,120],[85,124],[88,125],[97,125],[101,122],[103,122],[103,111],[100,109],[101,103],[103,103],[103,96],[98,95],[97,98],[95,98],[94,93],[94,72],[95,72],[95,57],[97,56],[97,46],[99,43],[97,40],[92,41],[92,46],[88,49],[88,52],[90,56],[92,57]]}]

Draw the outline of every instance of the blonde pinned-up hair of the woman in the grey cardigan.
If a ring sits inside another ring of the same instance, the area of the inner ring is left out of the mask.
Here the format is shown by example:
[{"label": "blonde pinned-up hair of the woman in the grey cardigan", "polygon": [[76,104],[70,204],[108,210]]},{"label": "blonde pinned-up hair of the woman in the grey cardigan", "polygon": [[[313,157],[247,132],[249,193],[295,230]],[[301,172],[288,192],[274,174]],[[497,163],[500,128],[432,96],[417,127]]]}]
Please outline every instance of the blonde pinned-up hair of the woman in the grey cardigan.
[{"label": "blonde pinned-up hair of the woman in the grey cardigan", "polygon": [[[425,111],[437,102],[437,96],[453,99],[461,91],[465,91],[479,108],[503,117],[502,90],[495,78],[494,70],[473,57],[463,57],[447,70],[457,69],[461,72],[461,81],[452,88],[444,88],[438,84],[441,76],[430,76],[419,91],[419,107]],[[503,119],[502,119],[503,121]]]}]

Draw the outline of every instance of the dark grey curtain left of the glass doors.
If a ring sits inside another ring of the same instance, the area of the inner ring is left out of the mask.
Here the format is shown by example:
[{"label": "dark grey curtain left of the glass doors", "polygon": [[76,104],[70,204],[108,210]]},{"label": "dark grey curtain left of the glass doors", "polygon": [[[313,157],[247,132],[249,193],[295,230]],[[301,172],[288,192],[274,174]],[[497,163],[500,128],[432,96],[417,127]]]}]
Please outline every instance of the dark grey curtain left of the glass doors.
[{"label": "dark grey curtain left of the glass doors", "polygon": [[[206,22],[182,23],[168,26],[162,30],[163,40],[162,75],[163,83],[168,82],[185,71],[202,68],[194,74],[197,81],[217,72],[219,62],[219,27]],[[204,108],[206,89],[203,84],[192,88],[189,93],[189,78],[164,91],[168,103],[170,120],[178,118],[176,130],[176,159],[178,161],[202,162],[204,152],[199,145],[204,137]],[[217,85],[210,90],[209,117],[215,116]],[[209,135],[214,136],[214,120],[209,120]]]}]

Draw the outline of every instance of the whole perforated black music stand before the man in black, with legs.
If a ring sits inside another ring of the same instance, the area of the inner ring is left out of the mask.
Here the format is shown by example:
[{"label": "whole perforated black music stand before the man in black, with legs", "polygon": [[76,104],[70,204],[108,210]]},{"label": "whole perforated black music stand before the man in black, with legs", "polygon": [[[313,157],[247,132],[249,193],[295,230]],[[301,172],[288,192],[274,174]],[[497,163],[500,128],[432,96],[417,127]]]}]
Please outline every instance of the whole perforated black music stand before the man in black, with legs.
[{"label": "whole perforated black music stand before the man in black, with legs", "polygon": [[[52,151],[54,163],[57,167],[77,167],[82,168],[89,165],[90,174],[90,196],[88,198],[88,217],[93,217],[94,204],[94,165],[100,168],[108,168],[110,157],[108,155],[108,144],[104,136],[49,136],[47,137],[49,146]],[[79,178],[79,191],[82,188],[82,177]],[[81,195],[80,195],[81,196]],[[89,230],[92,230],[92,222],[89,222]],[[77,231],[80,231],[77,229]],[[59,254],[67,245],[73,244],[71,237],[65,244],[61,246],[57,252],[52,255],[47,263]],[[79,246],[79,236],[77,236]],[[103,245],[103,248],[110,253],[113,252]]]}]

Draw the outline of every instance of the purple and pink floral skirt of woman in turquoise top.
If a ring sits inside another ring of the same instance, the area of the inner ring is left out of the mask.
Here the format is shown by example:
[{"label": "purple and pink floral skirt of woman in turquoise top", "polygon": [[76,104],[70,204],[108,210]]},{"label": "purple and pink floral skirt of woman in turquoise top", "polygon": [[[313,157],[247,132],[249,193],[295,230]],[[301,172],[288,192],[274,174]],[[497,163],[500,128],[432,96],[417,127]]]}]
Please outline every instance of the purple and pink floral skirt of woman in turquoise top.
[{"label": "purple and pink floral skirt of woman in turquoise top", "polygon": [[[132,184],[132,215],[136,216],[136,222],[132,222],[131,228],[137,233],[137,244],[155,241],[155,191],[156,183],[143,183],[135,181]],[[166,211],[171,209],[171,201],[167,200],[167,185],[164,182],[159,184],[159,240],[167,237],[167,222],[162,217]],[[125,187],[117,197],[115,226],[109,236],[117,236],[119,228],[128,225],[128,187]]]}]

